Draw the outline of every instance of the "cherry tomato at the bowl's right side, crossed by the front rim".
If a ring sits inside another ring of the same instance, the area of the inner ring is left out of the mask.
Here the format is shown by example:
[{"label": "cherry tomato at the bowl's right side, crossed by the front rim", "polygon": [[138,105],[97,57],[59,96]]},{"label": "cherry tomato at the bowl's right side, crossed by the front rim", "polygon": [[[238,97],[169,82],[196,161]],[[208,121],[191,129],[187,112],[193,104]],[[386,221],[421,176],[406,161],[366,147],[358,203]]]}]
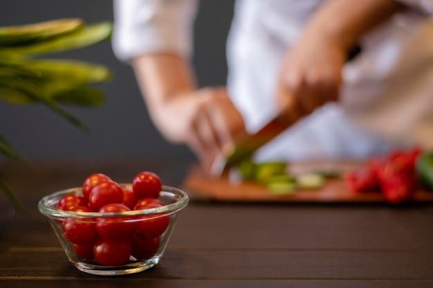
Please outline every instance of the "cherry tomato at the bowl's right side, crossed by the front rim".
[{"label": "cherry tomato at the bowl's right side, crossed by the front rim", "polygon": [[[149,203],[142,209],[161,207],[157,203]],[[136,233],[144,238],[154,238],[160,236],[167,230],[170,222],[169,215],[145,215],[142,220],[136,222]]]}]

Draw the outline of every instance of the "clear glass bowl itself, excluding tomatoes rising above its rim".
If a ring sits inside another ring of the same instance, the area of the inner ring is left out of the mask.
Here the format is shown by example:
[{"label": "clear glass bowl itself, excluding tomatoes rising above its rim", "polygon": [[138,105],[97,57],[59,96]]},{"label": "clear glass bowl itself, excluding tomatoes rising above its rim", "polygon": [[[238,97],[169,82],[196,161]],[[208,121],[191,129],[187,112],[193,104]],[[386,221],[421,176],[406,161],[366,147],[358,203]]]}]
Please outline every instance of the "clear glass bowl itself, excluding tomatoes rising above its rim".
[{"label": "clear glass bowl itself, excluding tomatoes rising above its rim", "polygon": [[[131,189],[131,184],[120,185]],[[189,201],[181,189],[163,186],[158,198],[164,204],[161,207],[111,213],[56,209],[59,199],[71,193],[82,195],[82,188],[65,189],[45,196],[39,201],[39,212],[48,217],[68,260],[80,271],[102,276],[138,273],[157,265],[178,215]],[[95,230],[97,224],[99,227]],[[99,233],[103,232],[100,227],[104,225],[109,228],[104,234],[107,238]],[[92,240],[82,240],[89,237],[74,238],[71,233],[92,235]]]}]

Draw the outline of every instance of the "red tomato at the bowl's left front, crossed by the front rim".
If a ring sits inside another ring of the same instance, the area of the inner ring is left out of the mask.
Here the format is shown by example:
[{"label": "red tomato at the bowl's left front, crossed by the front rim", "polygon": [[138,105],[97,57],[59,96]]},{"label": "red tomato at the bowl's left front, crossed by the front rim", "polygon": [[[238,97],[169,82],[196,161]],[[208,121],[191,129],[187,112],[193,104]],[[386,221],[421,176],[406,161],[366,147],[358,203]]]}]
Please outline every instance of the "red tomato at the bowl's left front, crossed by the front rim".
[{"label": "red tomato at the bowl's left front, crossed by the front rim", "polygon": [[[88,206],[72,209],[76,212],[93,212]],[[62,223],[64,237],[73,244],[93,244],[98,238],[95,221],[92,219],[68,218]]]}]

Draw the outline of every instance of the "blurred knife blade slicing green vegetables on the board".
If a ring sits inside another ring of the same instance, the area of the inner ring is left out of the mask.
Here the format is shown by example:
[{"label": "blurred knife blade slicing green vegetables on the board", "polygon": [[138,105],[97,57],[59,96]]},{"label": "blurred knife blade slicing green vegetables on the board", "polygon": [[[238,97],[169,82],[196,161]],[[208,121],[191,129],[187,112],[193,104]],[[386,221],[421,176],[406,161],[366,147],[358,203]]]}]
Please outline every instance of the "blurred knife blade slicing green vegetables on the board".
[{"label": "blurred knife blade slicing green vegetables on the board", "polygon": [[273,140],[279,133],[295,123],[297,119],[289,119],[281,115],[273,118],[263,128],[254,134],[246,135],[233,148],[225,149],[218,155],[210,169],[210,175],[221,177],[230,167],[236,166],[246,157],[250,157],[258,148]]}]

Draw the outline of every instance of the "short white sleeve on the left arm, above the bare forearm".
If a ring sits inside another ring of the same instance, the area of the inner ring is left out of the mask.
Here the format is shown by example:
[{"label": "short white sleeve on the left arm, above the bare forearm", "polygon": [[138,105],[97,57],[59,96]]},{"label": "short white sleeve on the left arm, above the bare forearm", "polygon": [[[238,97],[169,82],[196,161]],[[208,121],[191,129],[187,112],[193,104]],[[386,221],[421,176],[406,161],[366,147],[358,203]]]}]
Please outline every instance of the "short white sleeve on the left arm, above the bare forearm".
[{"label": "short white sleeve on the left arm, above the bare forearm", "polygon": [[198,0],[113,0],[113,52],[129,61],[149,52],[191,57]]}]

